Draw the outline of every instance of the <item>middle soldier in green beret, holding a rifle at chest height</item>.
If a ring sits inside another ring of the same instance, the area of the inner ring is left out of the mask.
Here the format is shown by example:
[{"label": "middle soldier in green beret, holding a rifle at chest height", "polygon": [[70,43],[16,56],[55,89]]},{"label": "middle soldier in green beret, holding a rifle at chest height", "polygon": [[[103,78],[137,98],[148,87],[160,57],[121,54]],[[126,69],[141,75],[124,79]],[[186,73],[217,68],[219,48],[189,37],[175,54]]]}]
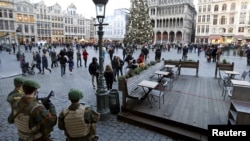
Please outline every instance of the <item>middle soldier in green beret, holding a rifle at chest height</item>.
[{"label": "middle soldier in green beret, holding a rifle at chest height", "polygon": [[48,101],[48,109],[35,98],[40,85],[33,80],[23,83],[25,95],[13,105],[14,122],[19,141],[51,141],[50,132],[57,123],[55,106]]}]

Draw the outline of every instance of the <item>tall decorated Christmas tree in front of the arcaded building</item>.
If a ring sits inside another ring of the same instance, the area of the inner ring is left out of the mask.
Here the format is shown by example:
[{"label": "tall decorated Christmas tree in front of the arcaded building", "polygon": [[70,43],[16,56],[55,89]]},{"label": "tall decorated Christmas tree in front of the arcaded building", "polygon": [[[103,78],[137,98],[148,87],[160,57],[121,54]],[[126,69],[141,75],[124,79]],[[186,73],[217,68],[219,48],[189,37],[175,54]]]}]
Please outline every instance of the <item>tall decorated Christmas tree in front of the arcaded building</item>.
[{"label": "tall decorated Christmas tree in front of the arcaded building", "polygon": [[139,44],[152,42],[153,27],[149,18],[147,0],[131,0],[131,8],[124,43]]}]

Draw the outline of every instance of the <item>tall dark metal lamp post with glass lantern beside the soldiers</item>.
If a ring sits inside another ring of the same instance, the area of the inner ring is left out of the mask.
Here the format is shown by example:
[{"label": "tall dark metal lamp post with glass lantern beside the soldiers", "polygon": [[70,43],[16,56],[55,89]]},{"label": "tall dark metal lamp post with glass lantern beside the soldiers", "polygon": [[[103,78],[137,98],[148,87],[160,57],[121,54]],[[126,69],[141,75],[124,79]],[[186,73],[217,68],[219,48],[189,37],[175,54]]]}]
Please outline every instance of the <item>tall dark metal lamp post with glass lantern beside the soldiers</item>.
[{"label": "tall dark metal lamp post with glass lantern beside the soldiers", "polygon": [[98,85],[96,90],[96,103],[97,103],[97,112],[101,115],[101,120],[106,120],[109,117],[110,109],[109,109],[109,97],[108,90],[106,88],[105,79],[104,79],[104,56],[103,56],[103,24],[105,18],[105,8],[108,0],[93,0],[96,5],[96,17],[98,19],[99,24],[95,24],[98,26],[98,47],[99,47],[99,77],[98,77]]}]

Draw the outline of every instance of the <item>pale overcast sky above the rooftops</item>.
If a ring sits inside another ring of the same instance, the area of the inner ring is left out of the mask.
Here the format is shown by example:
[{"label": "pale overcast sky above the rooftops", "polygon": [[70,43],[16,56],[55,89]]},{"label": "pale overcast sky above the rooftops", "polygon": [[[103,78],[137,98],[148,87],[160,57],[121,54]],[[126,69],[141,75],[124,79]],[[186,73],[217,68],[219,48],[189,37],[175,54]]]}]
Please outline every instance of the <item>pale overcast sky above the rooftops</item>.
[{"label": "pale overcast sky above the rooftops", "polygon": [[[40,2],[41,0],[30,0],[30,2]],[[79,14],[84,15],[86,18],[95,17],[95,4],[93,0],[43,0],[47,6],[54,5],[58,2],[62,10],[66,10],[66,8],[71,4],[75,4],[77,8],[77,12]],[[197,3],[198,0],[194,0]],[[112,15],[114,9],[118,8],[128,8],[130,7],[130,0],[109,0],[106,6],[106,15]]]}]

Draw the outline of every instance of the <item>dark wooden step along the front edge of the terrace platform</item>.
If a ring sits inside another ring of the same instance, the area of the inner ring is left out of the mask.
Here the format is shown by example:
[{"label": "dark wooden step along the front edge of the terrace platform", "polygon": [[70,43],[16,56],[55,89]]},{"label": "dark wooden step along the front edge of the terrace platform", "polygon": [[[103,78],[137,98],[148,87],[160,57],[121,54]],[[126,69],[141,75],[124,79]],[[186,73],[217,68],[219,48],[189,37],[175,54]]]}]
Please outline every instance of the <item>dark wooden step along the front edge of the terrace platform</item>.
[{"label": "dark wooden step along the front edge of the terrace platform", "polygon": [[[129,124],[138,125],[156,131],[158,133],[172,137],[173,139],[181,139],[186,141],[207,141],[207,136],[197,131],[192,131],[192,127],[187,129],[186,125],[181,123],[170,123],[168,120],[164,122],[162,119],[150,118],[133,112],[121,112],[117,115],[117,119]],[[190,130],[191,129],[191,130]],[[196,129],[195,129],[196,130]]]}]

